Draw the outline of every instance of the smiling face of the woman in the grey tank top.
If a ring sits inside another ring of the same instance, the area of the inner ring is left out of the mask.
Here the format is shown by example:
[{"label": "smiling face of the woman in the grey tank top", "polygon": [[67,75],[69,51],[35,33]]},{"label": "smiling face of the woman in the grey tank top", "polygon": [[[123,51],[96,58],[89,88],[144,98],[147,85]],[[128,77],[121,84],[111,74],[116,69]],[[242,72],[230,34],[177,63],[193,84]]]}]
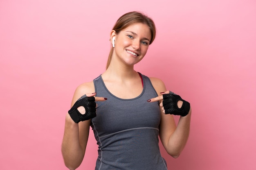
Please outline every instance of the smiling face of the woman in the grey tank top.
[{"label": "smiling face of the woman in the grey tank top", "polygon": [[146,55],[150,39],[151,32],[146,24],[132,24],[115,35],[113,55],[128,65],[134,65]]}]

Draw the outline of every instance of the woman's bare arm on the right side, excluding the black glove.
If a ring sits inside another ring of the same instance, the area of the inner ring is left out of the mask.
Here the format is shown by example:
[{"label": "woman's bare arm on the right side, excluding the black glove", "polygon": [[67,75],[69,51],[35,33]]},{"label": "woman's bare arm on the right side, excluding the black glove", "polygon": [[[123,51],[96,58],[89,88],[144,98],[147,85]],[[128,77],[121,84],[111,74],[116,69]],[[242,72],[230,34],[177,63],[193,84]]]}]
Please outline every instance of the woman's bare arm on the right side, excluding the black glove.
[{"label": "woman's bare arm on the right side, excluding the black glove", "polygon": [[[182,152],[189,138],[190,131],[190,120],[191,120],[191,108],[189,113],[182,117],[176,126],[173,115],[164,114],[162,105],[162,94],[160,92],[166,92],[166,87],[164,83],[158,78],[150,78],[154,88],[156,89],[159,97],[151,99],[151,102],[160,100],[160,110],[161,110],[161,122],[159,126],[159,137],[162,141],[164,148],[167,153],[174,158],[177,158]],[[177,103],[178,107],[182,106],[182,101]]]}]

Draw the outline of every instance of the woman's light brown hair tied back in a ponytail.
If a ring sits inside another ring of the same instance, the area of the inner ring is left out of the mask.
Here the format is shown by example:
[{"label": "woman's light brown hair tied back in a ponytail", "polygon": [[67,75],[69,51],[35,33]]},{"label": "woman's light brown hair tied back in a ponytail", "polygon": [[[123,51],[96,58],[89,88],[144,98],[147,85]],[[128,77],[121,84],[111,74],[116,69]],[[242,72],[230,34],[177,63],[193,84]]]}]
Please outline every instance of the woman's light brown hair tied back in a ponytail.
[{"label": "woman's light brown hair tied back in a ponytail", "polygon": [[[153,20],[150,17],[146,16],[143,13],[140,13],[137,11],[132,11],[132,12],[128,12],[128,13],[122,15],[121,17],[119,17],[119,19],[117,20],[117,22],[114,25],[112,30],[115,30],[116,33],[118,34],[123,29],[125,29],[128,26],[135,24],[135,23],[142,23],[142,24],[148,25],[150,32],[151,32],[151,39],[150,39],[149,44],[152,44],[152,42],[155,39],[155,34],[156,34],[155,23],[153,22]],[[114,48],[111,47],[109,55],[108,55],[106,69],[108,69],[108,66],[110,65],[113,50],[114,50]]]}]

